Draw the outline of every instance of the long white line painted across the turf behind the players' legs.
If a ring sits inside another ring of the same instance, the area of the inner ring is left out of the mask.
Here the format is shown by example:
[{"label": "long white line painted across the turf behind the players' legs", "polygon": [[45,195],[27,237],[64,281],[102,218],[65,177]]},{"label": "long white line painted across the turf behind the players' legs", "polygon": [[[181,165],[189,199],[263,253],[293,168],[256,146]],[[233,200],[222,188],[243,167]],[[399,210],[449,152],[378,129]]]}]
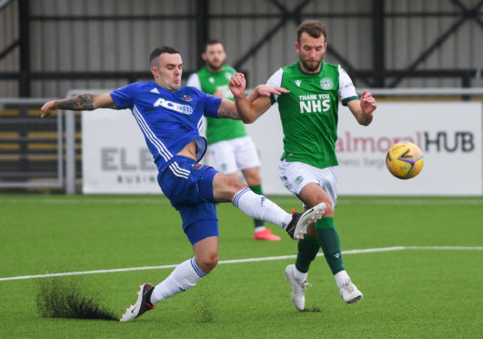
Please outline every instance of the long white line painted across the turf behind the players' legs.
[{"label": "long white line painted across the turf behind the players' legs", "polygon": [[[342,251],[342,254],[360,254],[360,253],[375,253],[375,252],[391,252],[391,251],[405,251],[405,250],[432,250],[432,251],[483,251],[483,247],[464,247],[464,246],[394,246],[394,247],[381,247],[375,249],[363,249],[363,250],[347,250]],[[323,256],[323,253],[317,254],[317,256]],[[261,258],[247,258],[247,259],[233,259],[224,260],[218,262],[218,264],[226,263],[239,263],[239,262],[268,262],[276,260],[295,259],[297,255],[280,255],[277,257],[261,257]],[[163,270],[168,268],[175,268],[177,264],[161,265],[161,266],[142,266],[142,267],[129,267],[122,269],[111,270],[98,270],[98,271],[81,271],[81,272],[62,272],[62,273],[49,273],[49,274],[37,274],[37,275],[21,275],[16,277],[0,278],[0,282],[6,282],[11,280],[24,280],[24,279],[36,279],[36,278],[50,278],[50,277],[62,277],[67,275],[81,275],[81,274],[96,274],[96,273],[113,273],[113,272],[129,272],[129,271],[146,271],[146,270]]]}]

